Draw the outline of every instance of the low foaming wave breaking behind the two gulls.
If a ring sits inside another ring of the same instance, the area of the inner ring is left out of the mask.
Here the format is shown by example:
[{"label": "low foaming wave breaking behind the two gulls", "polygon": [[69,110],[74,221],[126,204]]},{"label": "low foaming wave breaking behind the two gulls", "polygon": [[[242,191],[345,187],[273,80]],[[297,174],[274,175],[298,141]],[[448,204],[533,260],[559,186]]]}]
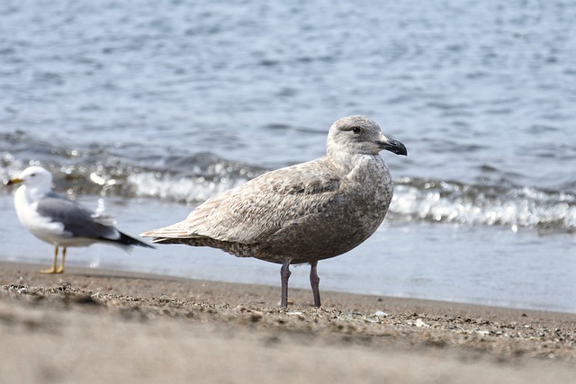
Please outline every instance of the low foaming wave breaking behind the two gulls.
[{"label": "low foaming wave breaking behind the two gulls", "polygon": [[[0,176],[8,178],[28,165],[43,165],[54,174],[59,192],[162,199],[184,203],[204,201],[266,172],[211,153],[141,156],[141,148],[50,147],[4,135],[10,151],[0,157]],[[26,152],[35,160],[23,161]],[[2,193],[12,190],[3,188]],[[542,234],[576,232],[576,195],[511,183],[467,184],[403,177],[396,180],[389,219],[397,222],[450,223],[467,226],[532,228]]]}]

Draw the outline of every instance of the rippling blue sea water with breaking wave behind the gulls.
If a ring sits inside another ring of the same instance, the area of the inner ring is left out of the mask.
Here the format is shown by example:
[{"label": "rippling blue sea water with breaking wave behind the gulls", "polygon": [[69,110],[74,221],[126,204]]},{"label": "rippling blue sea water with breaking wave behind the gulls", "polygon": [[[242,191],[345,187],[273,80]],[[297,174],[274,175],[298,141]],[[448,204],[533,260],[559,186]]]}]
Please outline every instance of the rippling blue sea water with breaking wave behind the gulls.
[{"label": "rippling blue sea water with breaking wave behind the gulls", "polygon": [[[44,165],[136,235],[322,156],[332,121],[365,114],[409,156],[383,154],[390,214],[320,263],[324,289],[576,312],[575,4],[7,0],[0,16],[1,177]],[[48,263],[12,192],[0,258]],[[279,283],[274,264],[205,248],[70,255]]]}]

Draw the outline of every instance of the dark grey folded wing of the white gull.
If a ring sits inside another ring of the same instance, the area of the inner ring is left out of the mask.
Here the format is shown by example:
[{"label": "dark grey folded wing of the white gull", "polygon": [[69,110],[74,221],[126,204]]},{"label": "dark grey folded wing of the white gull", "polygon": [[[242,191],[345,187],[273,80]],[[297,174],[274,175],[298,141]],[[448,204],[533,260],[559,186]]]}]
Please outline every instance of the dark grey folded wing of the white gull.
[{"label": "dark grey folded wing of the white gull", "polygon": [[63,226],[62,237],[81,237],[95,241],[111,242],[116,246],[148,246],[148,244],[123,234],[113,226],[110,216],[86,210],[55,192],[48,192],[38,201],[36,211],[40,216]]}]

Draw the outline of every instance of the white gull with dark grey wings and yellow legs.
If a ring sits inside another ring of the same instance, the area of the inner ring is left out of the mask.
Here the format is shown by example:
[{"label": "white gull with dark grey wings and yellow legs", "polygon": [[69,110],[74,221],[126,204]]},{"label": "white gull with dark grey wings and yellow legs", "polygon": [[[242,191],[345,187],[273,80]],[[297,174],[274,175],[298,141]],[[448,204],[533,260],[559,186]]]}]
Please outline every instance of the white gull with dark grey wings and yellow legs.
[{"label": "white gull with dark grey wings and yellow legs", "polygon": [[[30,166],[6,185],[22,183],[14,194],[14,207],[18,219],[32,235],[54,246],[52,266],[41,273],[62,273],[68,246],[90,246],[104,243],[128,248],[143,246],[154,248],[114,228],[110,216],[94,213],[76,201],[52,192],[52,174],[41,166]],[[62,260],[58,268],[58,248],[62,247]]]}]

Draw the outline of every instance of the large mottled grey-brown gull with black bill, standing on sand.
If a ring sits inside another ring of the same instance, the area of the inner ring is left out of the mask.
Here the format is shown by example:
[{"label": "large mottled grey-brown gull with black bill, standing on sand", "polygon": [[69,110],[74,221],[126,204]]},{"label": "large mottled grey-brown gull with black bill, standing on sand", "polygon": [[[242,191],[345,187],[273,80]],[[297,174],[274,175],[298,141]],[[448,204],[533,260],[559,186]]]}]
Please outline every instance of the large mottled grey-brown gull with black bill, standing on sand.
[{"label": "large mottled grey-brown gull with black bill, standing on sand", "polygon": [[283,308],[288,306],[290,265],[310,263],[314,306],[320,307],[318,262],[374,234],[392,201],[392,177],[382,150],[408,154],[373,120],[345,117],[329,129],[326,156],[261,174],[203,202],[183,221],[140,236],[282,264]]}]

